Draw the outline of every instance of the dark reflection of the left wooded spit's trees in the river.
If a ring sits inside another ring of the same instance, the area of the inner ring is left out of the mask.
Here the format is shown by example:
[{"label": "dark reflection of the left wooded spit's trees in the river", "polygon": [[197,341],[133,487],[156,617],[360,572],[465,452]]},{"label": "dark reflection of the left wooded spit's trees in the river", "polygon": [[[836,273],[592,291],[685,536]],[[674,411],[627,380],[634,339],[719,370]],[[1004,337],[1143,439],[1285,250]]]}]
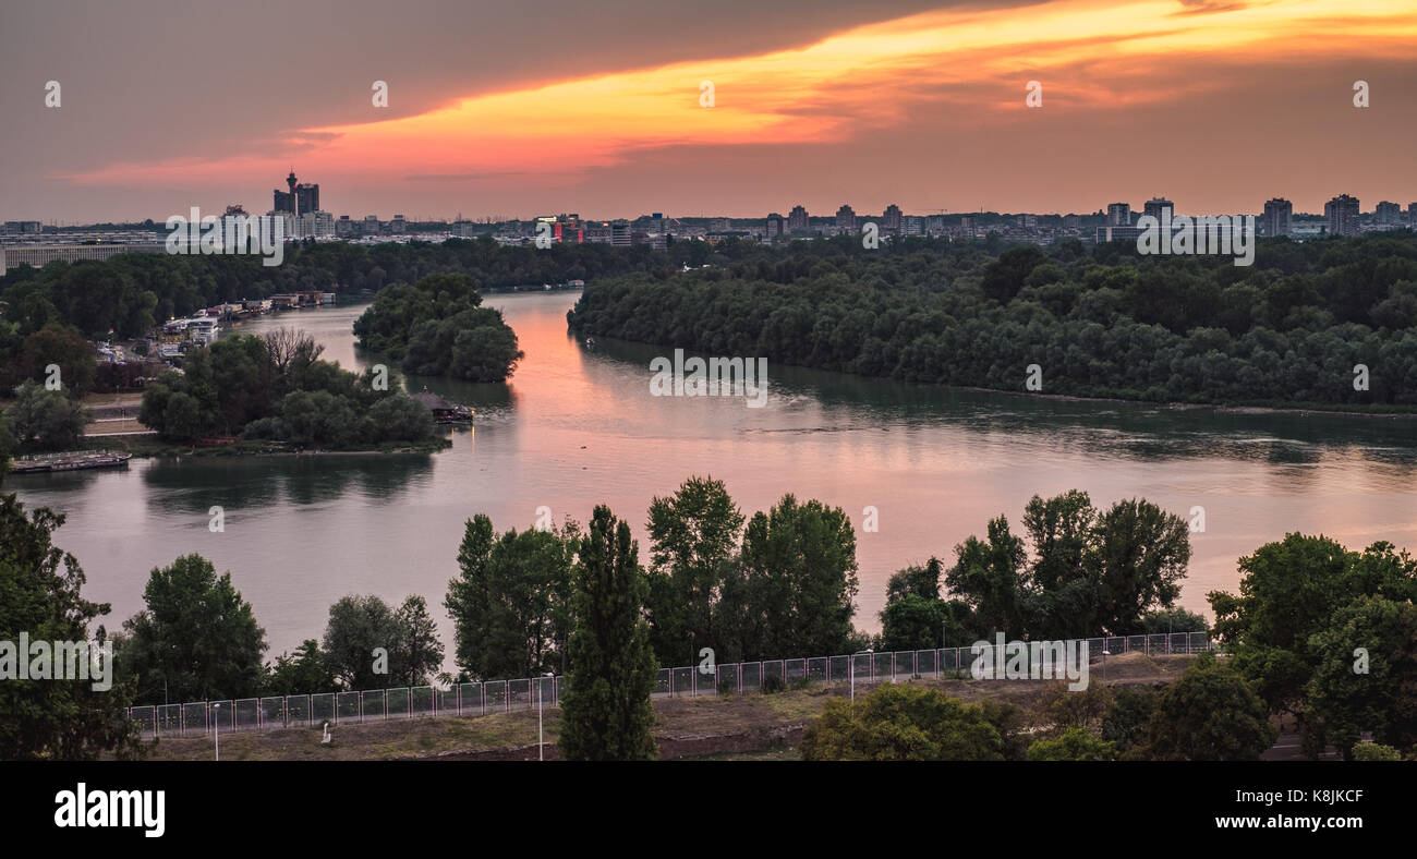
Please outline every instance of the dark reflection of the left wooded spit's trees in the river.
[{"label": "dark reflection of the left wooded spit's trees in the river", "polygon": [[164,512],[310,506],[359,492],[391,502],[432,473],[431,454],[174,458],[154,462],[143,483]]}]

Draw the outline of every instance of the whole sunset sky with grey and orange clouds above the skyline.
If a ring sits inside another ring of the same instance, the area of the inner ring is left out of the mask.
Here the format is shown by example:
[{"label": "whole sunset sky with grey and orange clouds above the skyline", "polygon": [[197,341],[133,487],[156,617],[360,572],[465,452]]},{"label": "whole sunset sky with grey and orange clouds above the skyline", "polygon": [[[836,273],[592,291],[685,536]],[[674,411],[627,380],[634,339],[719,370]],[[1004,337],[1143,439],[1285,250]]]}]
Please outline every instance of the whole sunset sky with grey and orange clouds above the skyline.
[{"label": "whole sunset sky with grey and orange clouds above the skyline", "polygon": [[1413,0],[10,1],[0,94],[4,220],[1417,200]]}]

